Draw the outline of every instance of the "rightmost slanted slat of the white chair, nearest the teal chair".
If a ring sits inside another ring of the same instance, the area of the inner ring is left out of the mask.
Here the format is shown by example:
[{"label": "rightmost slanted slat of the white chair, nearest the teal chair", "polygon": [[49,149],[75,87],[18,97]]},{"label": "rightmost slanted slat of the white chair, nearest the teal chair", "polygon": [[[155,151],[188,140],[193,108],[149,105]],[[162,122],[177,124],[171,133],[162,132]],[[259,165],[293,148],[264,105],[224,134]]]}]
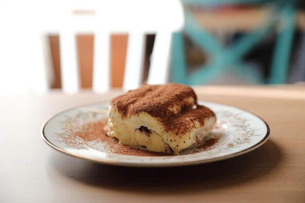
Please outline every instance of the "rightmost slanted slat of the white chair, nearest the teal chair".
[{"label": "rightmost slanted slat of the white chair, nearest the teal chair", "polygon": [[169,80],[172,34],[157,33],[151,56],[148,84],[165,84]]}]

